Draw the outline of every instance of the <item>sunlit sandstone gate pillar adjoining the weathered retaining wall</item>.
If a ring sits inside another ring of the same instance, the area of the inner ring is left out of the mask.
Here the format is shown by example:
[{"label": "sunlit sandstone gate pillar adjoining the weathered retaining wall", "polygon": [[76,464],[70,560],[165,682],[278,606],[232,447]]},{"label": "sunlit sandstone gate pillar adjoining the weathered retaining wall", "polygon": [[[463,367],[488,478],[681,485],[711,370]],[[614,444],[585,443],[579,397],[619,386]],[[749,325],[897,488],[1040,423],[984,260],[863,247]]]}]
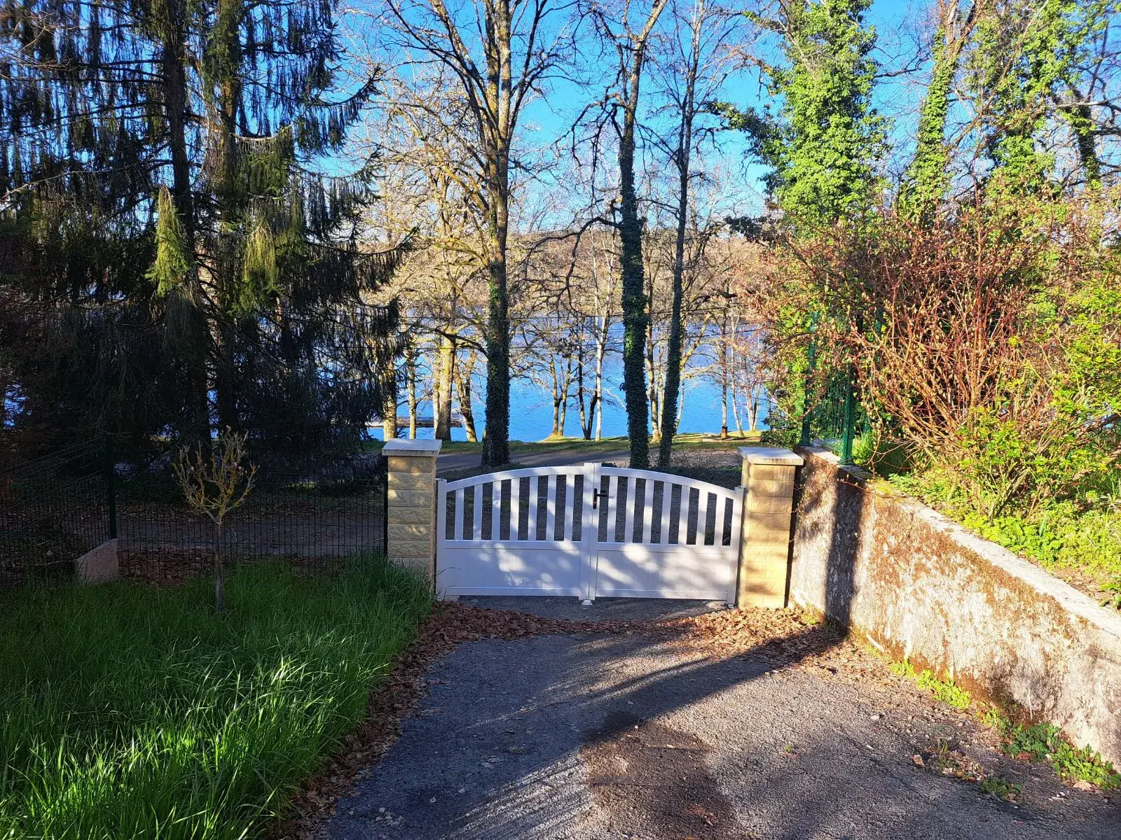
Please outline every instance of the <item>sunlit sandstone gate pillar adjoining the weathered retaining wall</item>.
[{"label": "sunlit sandstone gate pillar adjoining the weathered retaining wall", "polygon": [[780,447],[740,447],[747,487],[736,606],[786,606],[794,524],[794,477],[803,458]]}]

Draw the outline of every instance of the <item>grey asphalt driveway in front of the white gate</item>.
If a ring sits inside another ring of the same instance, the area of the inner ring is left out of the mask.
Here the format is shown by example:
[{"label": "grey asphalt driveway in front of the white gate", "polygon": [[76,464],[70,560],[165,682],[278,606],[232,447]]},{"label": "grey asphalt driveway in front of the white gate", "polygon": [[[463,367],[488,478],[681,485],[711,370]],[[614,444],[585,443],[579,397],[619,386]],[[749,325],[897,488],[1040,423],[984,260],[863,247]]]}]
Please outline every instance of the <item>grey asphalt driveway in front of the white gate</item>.
[{"label": "grey asphalt driveway in front of the white gate", "polygon": [[[581,618],[704,609],[522,603]],[[898,681],[844,678],[808,664],[776,670],[762,655],[715,660],[642,634],[463,645],[433,668],[417,716],[354,795],[340,801],[328,834],[1119,837],[1115,804],[1001,757],[967,716]],[[929,753],[917,766],[911,756],[937,739],[1021,783],[1019,805],[941,775]]]}]

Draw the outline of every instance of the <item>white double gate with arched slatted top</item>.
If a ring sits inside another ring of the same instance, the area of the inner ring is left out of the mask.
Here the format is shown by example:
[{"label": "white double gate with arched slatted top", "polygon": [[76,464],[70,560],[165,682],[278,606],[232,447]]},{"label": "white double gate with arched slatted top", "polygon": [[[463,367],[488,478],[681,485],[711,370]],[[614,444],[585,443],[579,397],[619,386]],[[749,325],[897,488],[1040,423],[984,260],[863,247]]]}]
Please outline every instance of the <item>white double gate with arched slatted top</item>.
[{"label": "white double gate with arched slatted top", "polygon": [[744,488],[582,464],[436,482],[436,588],[735,601]]}]

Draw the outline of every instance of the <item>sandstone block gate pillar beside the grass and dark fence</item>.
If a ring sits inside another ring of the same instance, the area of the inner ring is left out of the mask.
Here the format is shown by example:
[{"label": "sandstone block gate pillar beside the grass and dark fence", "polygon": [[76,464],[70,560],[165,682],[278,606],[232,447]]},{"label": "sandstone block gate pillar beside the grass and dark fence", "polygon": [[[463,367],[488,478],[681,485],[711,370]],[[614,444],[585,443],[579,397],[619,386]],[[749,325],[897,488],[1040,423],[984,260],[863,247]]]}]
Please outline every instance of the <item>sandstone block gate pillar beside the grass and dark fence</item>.
[{"label": "sandstone block gate pillar beside the grass and dark fence", "polygon": [[393,439],[387,460],[386,556],[429,584],[436,580],[436,456],[438,440]]}]

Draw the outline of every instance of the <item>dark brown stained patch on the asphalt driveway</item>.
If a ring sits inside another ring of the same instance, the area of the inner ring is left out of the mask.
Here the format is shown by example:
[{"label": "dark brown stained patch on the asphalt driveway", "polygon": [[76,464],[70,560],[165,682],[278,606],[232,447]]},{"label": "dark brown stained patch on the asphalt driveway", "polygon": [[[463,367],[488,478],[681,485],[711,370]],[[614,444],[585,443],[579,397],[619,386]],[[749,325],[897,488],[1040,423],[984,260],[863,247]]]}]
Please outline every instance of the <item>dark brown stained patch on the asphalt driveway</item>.
[{"label": "dark brown stained patch on the asphalt driveway", "polygon": [[708,772],[710,752],[696,736],[612,712],[581,757],[592,795],[626,836],[742,838],[732,804]]}]

